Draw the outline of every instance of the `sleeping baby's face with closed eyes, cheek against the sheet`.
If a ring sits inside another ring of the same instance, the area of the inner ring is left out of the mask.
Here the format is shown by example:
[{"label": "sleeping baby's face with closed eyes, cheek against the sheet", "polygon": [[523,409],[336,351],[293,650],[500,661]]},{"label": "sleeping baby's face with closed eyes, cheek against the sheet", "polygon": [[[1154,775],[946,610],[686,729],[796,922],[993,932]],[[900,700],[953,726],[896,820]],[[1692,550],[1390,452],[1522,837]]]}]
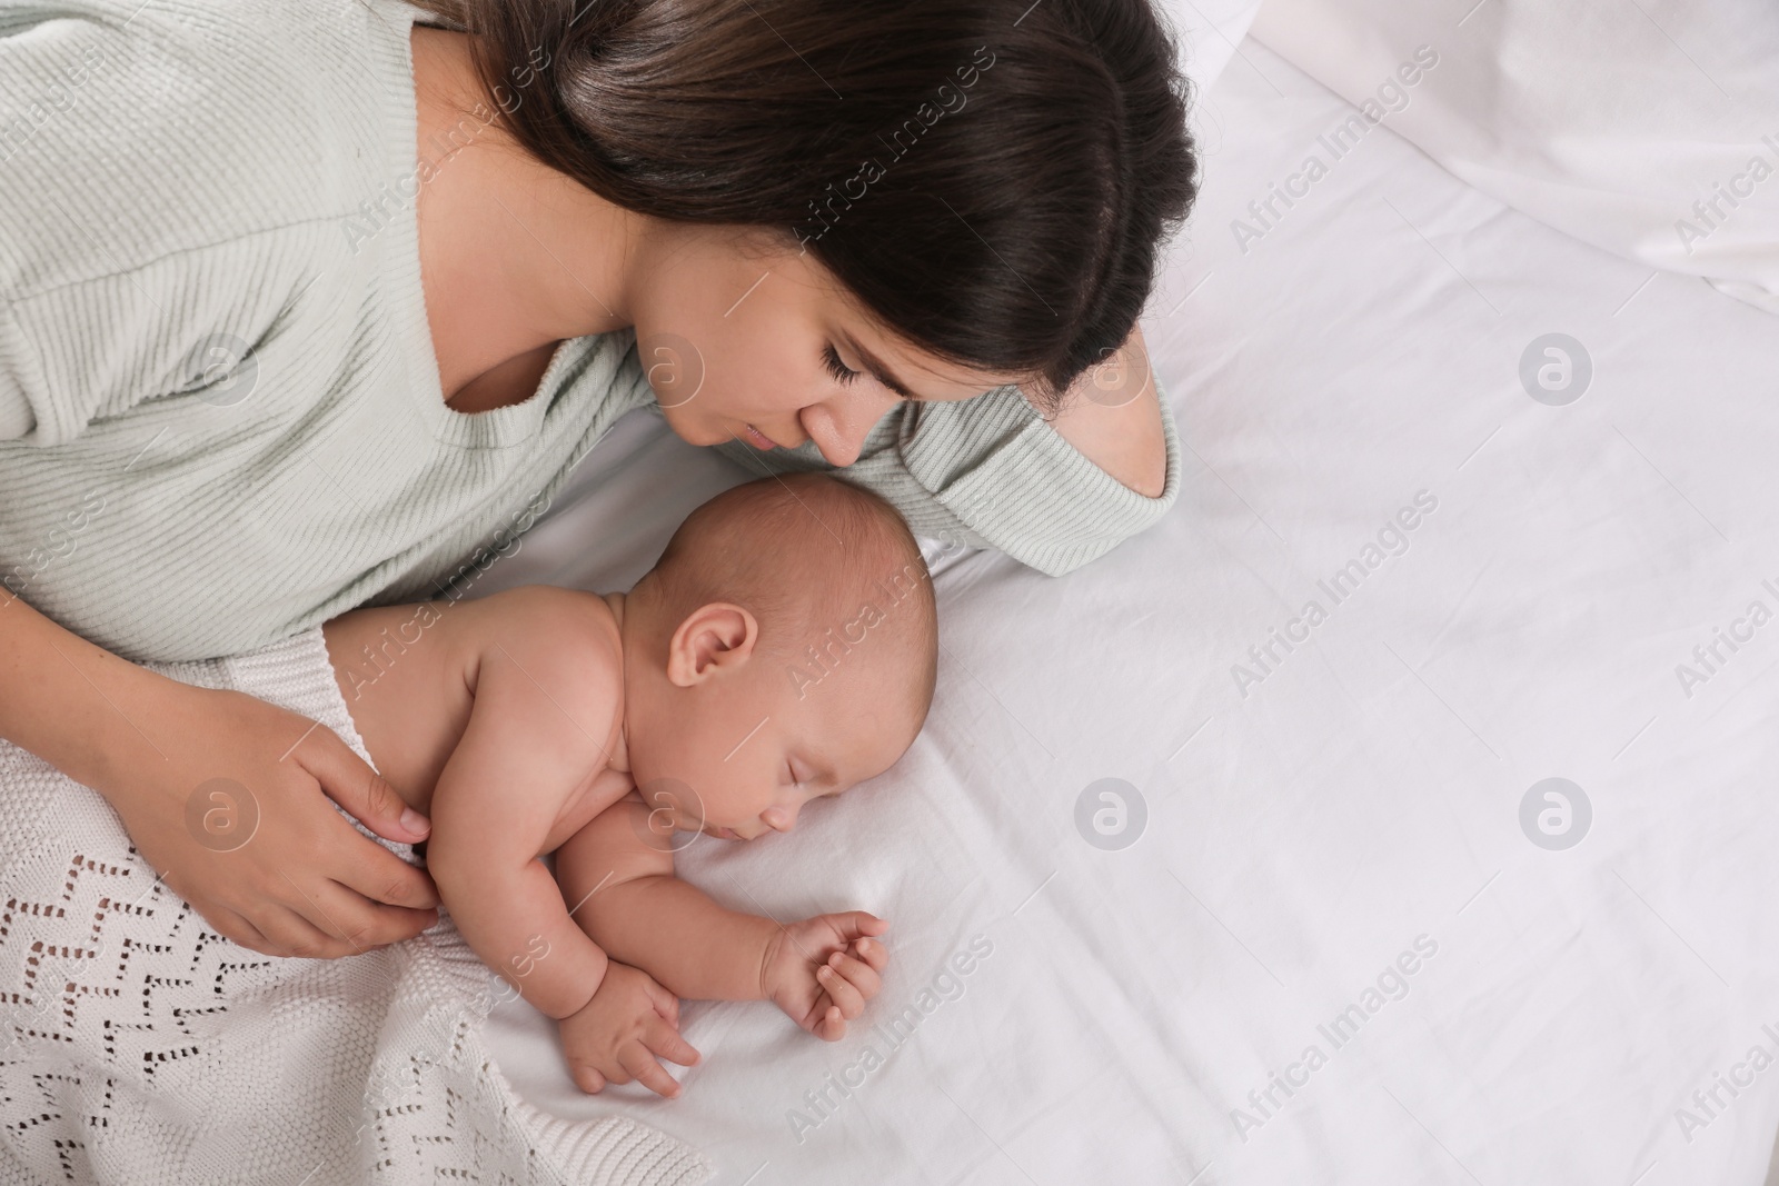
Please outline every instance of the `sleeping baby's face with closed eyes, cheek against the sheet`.
[{"label": "sleeping baby's face with closed eyes, cheek against the sheet", "polygon": [[[692,640],[687,651],[669,656],[624,709],[632,777],[676,830],[788,832],[809,800],[882,773],[913,741],[907,697],[884,686],[898,667],[888,654],[852,656],[854,670],[841,665],[811,685],[745,644]],[[875,670],[866,660],[879,660]]]}]

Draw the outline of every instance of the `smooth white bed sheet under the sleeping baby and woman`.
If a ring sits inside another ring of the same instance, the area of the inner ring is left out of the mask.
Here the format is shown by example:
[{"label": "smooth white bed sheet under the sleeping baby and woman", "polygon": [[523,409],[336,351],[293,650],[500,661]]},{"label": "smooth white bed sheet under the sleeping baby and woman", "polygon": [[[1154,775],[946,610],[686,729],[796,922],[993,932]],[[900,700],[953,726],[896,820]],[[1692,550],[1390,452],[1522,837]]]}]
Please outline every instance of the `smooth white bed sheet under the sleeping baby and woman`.
[{"label": "smooth white bed sheet under the sleeping baby and woman", "polygon": [[[1779,608],[1779,322],[1388,126],[1244,252],[1231,220],[1348,110],[1252,41],[1206,96],[1208,183],[1146,320],[1190,446],[1174,514],[1062,580],[939,557],[914,749],[792,836],[685,853],[738,909],[888,918],[865,1028],[690,1005],[681,1101],[584,1097],[512,1003],[489,1037],[521,1095],[683,1136],[719,1186],[1761,1181],[1779,1069],[1708,1117],[1690,1095],[1779,1054],[1779,624],[1690,697],[1676,665]],[[1560,407],[1519,379],[1548,333],[1594,368]],[[633,416],[487,589],[626,587],[744,477]],[[1407,551],[1334,605],[1318,578],[1420,491]],[[1327,621],[1244,697],[1231,667],[1308,599]],[[1075,825],[1105,777],[1147,805],[1119,852]],[[1548,777],[1594,813],[1562,852],[1519,823]],[[975,937],[961,996],[895,1047],[872,1030]],[[1318,1026],[1418,937],[1407,994],[1336,1047]],[[1309,1046],[1325,1065],[1260,1113]],[[818,1118],[804,1094],[849,1067]]]}]

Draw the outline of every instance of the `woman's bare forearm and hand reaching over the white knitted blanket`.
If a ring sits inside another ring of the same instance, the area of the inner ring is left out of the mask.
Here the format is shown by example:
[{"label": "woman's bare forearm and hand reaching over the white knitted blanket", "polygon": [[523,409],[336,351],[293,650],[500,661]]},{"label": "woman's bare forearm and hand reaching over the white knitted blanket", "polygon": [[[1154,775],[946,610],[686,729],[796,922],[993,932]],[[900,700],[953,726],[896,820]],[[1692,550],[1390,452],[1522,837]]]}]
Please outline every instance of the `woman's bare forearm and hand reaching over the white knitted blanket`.
[{"label": "woman's bare forearm and hand reaching over the white knitted blanket", "polygon": [[[246,948],[331,958],[438,918],[431,878],[324,798],[388,839],[425,836],[402,827],[400,797],[333,731],[121,660],[4,589],[0,738],[100,791],[167,885]],[[260,813],[233,852],[187,827],[187,800],[217,777],[246,788]]]}]

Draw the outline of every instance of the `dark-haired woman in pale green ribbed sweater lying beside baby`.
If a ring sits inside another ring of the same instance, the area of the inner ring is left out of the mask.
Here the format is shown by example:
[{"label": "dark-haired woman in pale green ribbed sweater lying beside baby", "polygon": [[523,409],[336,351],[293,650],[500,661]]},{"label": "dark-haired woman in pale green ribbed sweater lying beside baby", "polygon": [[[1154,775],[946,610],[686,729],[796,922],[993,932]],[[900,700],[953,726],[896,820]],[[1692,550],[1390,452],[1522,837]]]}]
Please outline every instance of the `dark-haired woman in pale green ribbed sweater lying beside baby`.
[{"label": "dark-haired woman in pale green ribbed sweater lying beside baby", "polygon": [[[427,7],[0,0],[0,736],[267,953],[434,919],[324,795],[425,820],[135,661],[441,596],[624,411],[1046,573],[1178,493],[1133,327],[1195,162],[1144,0]],[[187,830],[219,772],[276,845]]]}]

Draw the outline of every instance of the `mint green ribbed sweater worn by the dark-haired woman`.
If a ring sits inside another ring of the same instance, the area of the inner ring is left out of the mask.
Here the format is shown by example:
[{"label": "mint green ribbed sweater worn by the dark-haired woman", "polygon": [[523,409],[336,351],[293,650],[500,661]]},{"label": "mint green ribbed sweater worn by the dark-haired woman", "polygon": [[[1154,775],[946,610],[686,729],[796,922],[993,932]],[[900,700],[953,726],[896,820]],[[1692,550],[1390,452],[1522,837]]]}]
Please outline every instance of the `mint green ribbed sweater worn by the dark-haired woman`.
[{"label": "mint green ribbed sweater worn by the dark-haired woman", "polygon": [[[633,407],[632,331],[445,405],[397,0],[0,0],[0,581],[132,660],[439,596]],[[1158,519],[1012,388],[902,405],[845,469],[1060,574]],[[753,471],[827,468],[813,445]]]}]

